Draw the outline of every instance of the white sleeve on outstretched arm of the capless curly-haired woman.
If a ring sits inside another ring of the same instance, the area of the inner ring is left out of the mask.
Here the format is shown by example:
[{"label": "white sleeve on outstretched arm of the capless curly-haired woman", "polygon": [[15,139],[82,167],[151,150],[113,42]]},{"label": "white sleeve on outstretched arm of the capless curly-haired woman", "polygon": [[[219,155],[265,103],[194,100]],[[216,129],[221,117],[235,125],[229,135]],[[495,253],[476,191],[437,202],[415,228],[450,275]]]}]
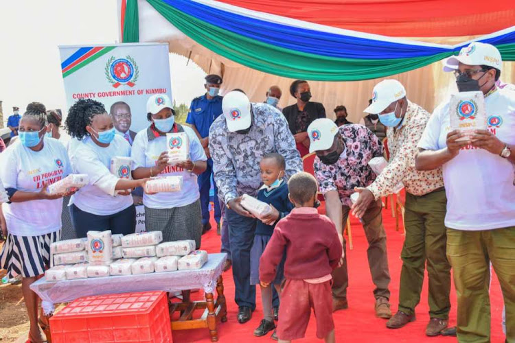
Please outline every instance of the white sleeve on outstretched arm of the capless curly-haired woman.
[{"label": "white sleeve on outstretched arm of the capless curly-haired woman", "polygon": [[111,174],[93,150],[83,145],[77,148],[72,158],[75,171],[78,174],[87,174],[90,185],[102,189],[110,196],[115,196],[115,187],[119,178]]}]

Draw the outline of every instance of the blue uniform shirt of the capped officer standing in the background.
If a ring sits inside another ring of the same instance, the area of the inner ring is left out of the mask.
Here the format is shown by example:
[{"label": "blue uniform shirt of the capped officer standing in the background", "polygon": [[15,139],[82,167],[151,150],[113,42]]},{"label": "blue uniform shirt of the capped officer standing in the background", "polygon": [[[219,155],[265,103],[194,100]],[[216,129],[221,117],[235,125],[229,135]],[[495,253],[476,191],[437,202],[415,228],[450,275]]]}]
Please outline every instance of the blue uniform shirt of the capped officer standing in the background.
[{"label": "blue uniform shirt of the capped officer standing in the background", "polygon": [[209,136],[211,124],[222,114],[222,99],[220,95],[213,99],[202,95],[192,100],[186,123],[193,124],[202,138]]}]

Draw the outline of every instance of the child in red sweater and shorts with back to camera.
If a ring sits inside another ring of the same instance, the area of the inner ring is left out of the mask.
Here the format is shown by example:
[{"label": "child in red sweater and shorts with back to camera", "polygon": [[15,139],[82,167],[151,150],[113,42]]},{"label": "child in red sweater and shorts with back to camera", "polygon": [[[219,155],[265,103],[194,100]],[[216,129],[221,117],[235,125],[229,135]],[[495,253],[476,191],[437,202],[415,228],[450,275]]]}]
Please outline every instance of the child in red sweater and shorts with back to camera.
[{"label": "child in red sweater and shorts with back to camera", "polygon": [[317,319],[317,337],[335,342],[332,320],[331,272],[339,265],[342,246],[336,226],[314,207],[317,180],[300,172],[288,182],[295,209],[275,226],[260,259],[262,287],[270,287],[286,250],[277,337],[279,342],[304,338],[311,308]]}]

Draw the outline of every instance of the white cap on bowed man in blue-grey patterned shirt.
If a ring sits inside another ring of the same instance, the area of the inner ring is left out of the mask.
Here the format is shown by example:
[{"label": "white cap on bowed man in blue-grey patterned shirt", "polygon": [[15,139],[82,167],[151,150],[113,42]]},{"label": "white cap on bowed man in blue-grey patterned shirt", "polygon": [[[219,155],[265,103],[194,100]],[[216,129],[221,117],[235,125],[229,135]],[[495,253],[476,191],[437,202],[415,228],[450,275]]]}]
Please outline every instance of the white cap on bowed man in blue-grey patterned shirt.
[{"label": "white cap on bowed man in blue-grey patterned shirt", "polygon": [[227,130],[235,132],[251,126],[251,102],[247,95],[239,91],[227,93],[222,100],[222,111]]}]

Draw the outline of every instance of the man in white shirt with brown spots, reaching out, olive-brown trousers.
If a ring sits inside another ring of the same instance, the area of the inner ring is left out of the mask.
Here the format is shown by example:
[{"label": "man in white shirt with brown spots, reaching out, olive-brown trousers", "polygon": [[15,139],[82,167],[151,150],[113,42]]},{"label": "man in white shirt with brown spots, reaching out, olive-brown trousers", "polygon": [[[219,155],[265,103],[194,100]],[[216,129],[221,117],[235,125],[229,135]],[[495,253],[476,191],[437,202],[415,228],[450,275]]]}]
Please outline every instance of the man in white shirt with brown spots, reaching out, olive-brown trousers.
[{"label": "man in white shirt with brown spots, reaching out, olive-brown trousers", "polygon": [[393,193],[400,182],[406,188],[399,308],[387,327],[398,329],[415,320],[427,261],[431,320],[426,335],[439,335],[447,327],[450,311],[450,265],[444,224],[447,198],[441,167],[429,171],[415,168],[417,144],[430,114],[407,99],[404,86],[397,80],[379,82],[374,87],[374,102],[365,112],[378,114],[387,127],[390,161],[371,185],[356,189],[360,196],[352,207],[353,213],[362,217],[371,202]]}]

